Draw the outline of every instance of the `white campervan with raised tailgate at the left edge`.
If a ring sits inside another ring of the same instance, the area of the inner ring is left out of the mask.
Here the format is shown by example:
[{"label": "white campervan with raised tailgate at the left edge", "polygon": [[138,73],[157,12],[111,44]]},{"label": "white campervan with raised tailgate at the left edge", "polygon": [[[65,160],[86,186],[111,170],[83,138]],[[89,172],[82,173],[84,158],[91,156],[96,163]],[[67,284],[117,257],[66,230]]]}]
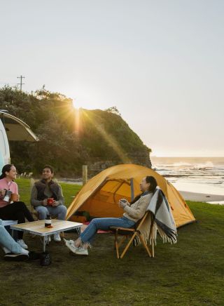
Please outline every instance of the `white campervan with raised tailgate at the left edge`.
[{"label": "white campervan with raised tailgate at the left edge", "polygon": [[10,164],[9,140],[34,142],[38,138],[25,122],[0,110],[0,171],[4,164]]}]

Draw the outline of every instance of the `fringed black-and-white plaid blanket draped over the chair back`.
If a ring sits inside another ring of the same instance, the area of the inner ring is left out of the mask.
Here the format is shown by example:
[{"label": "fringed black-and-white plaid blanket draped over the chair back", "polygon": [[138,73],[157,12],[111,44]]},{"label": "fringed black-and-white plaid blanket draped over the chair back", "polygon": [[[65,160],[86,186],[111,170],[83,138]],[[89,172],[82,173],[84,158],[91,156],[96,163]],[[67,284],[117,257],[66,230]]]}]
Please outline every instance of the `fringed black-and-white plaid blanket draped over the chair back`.
[{"label": "fringed black-and-white plaid blanket draped over the chair back", "polygon": [[[171,208],[167,197],[160,188],[156,188],[153,197],[148,204],[146,211],[150,211],[146,220],[140,227],[140,232],[144,236],[146,241],[152,241],[156,243],[157,232],[159,232],[164,242],[170,242],[176,244],[176,225],[174,217],[172,215]],[[137,239],[134,244],[139,244],[140,241]]]}]

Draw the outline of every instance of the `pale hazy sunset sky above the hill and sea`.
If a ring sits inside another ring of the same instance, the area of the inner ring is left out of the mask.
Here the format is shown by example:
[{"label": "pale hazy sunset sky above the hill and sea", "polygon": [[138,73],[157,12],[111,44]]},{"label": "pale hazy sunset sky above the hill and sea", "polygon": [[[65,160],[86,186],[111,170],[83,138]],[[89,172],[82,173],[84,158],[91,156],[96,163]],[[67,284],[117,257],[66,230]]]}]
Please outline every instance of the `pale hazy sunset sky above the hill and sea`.
[{"label": "pale hazy sunset sky above the hill and sea", "polygon": [[1,0],[0,87],[118,107],[156,156],[224,157],[224,1]]}]

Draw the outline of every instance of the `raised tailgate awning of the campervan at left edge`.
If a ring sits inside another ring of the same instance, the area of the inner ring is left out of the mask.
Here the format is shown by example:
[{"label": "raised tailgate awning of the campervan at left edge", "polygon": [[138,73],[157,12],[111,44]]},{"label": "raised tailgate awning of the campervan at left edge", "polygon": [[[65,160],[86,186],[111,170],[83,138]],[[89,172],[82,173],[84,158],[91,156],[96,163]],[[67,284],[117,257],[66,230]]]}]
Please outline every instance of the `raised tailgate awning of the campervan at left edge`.
[{"label": "raised tailgate awning of the campervan at left edge", "polygon": [[0,111],[0,119],[6,129],[8,140],[38,141],[38,137],[31,131],[29,126],[17,117]]}]

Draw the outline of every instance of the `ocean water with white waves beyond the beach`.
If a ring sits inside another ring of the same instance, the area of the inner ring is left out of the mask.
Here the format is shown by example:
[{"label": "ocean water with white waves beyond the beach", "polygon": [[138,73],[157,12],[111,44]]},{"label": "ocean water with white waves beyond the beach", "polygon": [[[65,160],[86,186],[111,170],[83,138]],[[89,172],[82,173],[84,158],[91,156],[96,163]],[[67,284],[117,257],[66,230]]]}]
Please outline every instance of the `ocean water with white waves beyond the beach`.
[{"label": "ocean water with white waves beyond the beach", "polygon": [[151,157],[153,170],[188,192],[224,195],[224,157]]}]

